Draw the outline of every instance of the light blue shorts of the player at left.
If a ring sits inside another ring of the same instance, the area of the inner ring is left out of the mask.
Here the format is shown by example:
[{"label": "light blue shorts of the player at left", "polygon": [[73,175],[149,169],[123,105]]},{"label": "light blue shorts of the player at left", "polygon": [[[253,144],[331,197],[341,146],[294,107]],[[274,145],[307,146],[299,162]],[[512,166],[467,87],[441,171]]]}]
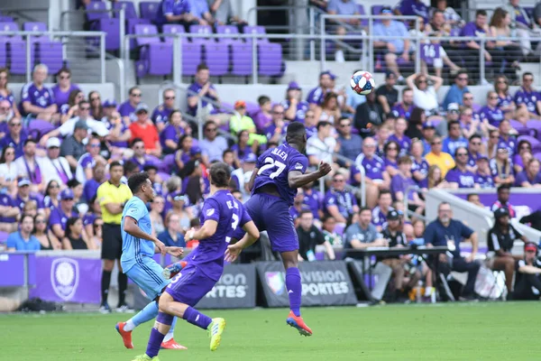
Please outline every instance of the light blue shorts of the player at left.
[{"label": "light blue shorts of the player at left", "polygon": [[161,274],[162,271],[160,264],[151,257],[142,256],[126,275],[146,293],[149,300],[153,301],[170,284],[170,280],[166,280]]}]

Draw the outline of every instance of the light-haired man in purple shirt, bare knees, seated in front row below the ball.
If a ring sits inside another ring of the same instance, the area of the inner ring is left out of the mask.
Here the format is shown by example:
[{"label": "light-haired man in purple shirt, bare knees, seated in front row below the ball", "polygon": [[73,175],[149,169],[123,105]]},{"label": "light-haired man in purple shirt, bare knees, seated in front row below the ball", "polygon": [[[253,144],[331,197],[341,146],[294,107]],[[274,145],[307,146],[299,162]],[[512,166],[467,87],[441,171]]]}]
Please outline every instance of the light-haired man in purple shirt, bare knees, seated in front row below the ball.
[{"label": "light-haired man in purple shirt, bare knees, seated in front row below the ball", "polygon": [[353,167],[351,177],[352,184],[361,183],[359,168],[364,169],[364,182],[366,185],[366,205],[373,208],[381,190],[389,189],[390,176],[385,170],[385,163],[376,154],[376,142],[373,138],[365,138],[362,142],[362,153],[355,159],[356,167]]}]

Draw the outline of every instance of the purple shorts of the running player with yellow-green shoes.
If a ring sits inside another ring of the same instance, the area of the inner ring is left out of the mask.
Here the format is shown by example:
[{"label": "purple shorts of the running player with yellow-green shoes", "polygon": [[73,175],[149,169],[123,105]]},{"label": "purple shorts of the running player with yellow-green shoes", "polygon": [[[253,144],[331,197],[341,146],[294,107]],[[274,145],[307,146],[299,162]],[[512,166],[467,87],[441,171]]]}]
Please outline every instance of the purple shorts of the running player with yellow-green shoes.
[{"label": "purple shorts of the running player with yellow-green shoes", "polygon": [[173,277],[165,292],[168,292],[173,300],[194,307],[215,284],[214,280],[198,271],[197,267],[188,265]]}]

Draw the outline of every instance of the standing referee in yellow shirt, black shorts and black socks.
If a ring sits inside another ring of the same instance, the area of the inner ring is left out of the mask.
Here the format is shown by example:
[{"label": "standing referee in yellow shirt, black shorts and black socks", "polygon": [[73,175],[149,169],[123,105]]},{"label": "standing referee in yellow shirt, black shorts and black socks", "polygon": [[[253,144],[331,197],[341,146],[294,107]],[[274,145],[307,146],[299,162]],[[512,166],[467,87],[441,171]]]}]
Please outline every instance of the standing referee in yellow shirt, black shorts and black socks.
[{"label": "standing referee in yellow shirt, black shorts and black socks", "polygon": [[122,272],[120,265],[120,256],[122,255],[120,224],[124,204],[132,198],[132,191],[120,181],[124,175],[124,168],[120,162],[112,162],[109,166],[109,173],[110,179],[99,186],[96,195],[102,210],[102,219],[104,220],[101,255],[104,260],[104,270],[101,282],[102,303],[99,309],[102,313],[111,312],[111,308],[107,303],[107,295],[115,260],[118,263],[118,308],[116,311],[125,312],[129,310],[125,302],[128,277]]}]

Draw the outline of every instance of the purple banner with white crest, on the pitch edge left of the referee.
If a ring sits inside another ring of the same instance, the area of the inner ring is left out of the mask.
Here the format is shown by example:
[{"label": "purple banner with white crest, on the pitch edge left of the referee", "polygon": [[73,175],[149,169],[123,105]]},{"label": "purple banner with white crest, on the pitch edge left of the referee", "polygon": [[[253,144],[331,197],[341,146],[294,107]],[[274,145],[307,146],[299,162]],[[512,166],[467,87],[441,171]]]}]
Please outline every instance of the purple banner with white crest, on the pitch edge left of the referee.
[{"label": "purple banner with white crest, on the pitch edge left of the referee", "polygon": [[30,297],[45,301],[99,303],[101,260],[36,257],[36,287]]}]

